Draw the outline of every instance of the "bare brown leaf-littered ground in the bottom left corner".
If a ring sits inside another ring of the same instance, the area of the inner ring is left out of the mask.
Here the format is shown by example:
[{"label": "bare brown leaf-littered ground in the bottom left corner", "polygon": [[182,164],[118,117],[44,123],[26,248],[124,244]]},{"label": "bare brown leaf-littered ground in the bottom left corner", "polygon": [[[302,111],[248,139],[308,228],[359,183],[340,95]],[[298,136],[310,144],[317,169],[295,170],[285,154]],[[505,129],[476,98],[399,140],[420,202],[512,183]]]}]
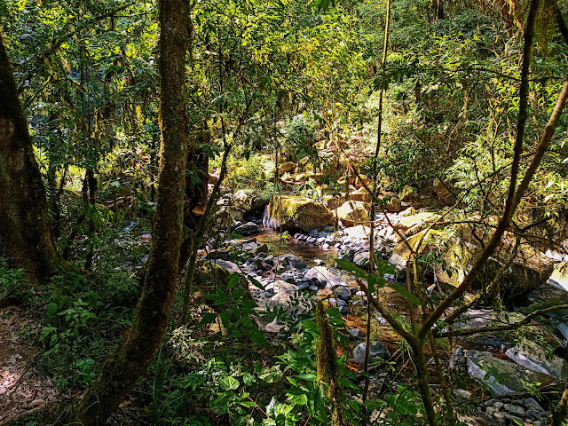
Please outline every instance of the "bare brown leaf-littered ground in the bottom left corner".
[{"label": "bare brown leaf-littered ground in the bottom left corner", "polygon": [[26,335],[39,327],[20,308],[0,309],[0,425],[41,410],[58,397],[57,383],[31,367],[36,348]]}]

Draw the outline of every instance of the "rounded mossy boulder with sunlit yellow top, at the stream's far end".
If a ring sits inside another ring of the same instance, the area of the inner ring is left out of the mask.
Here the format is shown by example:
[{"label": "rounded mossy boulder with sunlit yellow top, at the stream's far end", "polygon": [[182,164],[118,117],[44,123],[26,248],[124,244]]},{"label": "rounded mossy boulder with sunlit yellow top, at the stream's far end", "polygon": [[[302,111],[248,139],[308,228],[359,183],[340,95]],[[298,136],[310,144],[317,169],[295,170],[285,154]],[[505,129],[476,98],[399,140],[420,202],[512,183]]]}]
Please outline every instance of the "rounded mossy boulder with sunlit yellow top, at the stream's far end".
[{"label": "rounded mossy boulder with sunlit yellow top, at the stream's far end", "polygon": [[264,217],[264,226],[278,229],[301,229],[310,232],[329,225],[333,213],[319,202],[297,196],[274,195]]}]

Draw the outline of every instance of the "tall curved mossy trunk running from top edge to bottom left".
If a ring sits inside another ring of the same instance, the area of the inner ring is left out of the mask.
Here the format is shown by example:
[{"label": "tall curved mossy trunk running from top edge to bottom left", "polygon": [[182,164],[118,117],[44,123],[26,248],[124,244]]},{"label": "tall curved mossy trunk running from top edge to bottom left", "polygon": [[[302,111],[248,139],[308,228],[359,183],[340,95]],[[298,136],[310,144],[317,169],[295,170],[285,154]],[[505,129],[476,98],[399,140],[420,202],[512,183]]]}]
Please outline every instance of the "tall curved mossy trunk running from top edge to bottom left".
[{"label": "tall curved mossy trunk running from top edge to bottom left", "polygon": [[146,372],[162,343],[176,282],[182,236],[187,151],[185,52],[189,4],[160,2],[161,164],[153,244],[142,295],[132,327],[97,381],[85,394],[78,420],[85,426],[104,424],[140,375]]}]

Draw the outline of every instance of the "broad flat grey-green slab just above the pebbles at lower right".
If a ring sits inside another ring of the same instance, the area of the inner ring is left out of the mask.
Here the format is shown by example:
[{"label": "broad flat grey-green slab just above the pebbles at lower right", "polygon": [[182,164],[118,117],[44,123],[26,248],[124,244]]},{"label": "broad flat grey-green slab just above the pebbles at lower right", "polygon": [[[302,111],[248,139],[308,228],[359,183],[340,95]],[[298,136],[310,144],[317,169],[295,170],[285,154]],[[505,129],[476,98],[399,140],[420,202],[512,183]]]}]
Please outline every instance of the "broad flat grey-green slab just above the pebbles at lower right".
[{"label": "broad flat grey-green slab just above the pebbles at lower right", "polygon": [[[513,395],[525,390],[523,382],[539,382],[543,385],[552,383],[554,379],[549,375],[531,371],[517,364],[494,358],[491,353],[483,351],[466,351],[468,361],[468,374],[477,378],[479,382],[489,386],[496,395]],[[503,383],[497,383],[492,375],[485,380],[488,370],[498,371]]]}]

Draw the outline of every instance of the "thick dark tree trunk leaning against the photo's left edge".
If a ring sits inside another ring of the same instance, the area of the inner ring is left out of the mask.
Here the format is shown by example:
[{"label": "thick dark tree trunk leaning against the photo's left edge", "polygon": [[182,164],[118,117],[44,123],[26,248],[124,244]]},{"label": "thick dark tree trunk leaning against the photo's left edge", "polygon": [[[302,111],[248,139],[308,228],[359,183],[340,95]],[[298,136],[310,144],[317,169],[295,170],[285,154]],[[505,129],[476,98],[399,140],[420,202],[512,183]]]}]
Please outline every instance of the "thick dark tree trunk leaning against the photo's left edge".
[{"label": "thick dark tree trunk leaning against the photo's left edge", "polygon": [[61,263],[50,233],[47,197],[0,32],[0,253],[43,280]]}]

